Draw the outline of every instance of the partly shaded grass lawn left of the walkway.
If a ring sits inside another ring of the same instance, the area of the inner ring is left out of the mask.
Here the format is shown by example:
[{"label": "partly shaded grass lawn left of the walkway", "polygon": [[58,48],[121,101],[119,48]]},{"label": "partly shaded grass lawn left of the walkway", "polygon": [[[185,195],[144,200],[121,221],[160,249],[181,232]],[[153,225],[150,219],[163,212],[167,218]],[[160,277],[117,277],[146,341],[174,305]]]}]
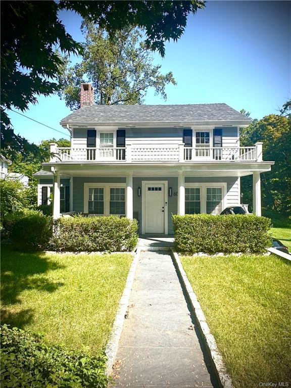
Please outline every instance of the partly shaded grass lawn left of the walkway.
[{"label": "partly shaded grass lawn left of the walkway", "polygon": [[2,250],[2,323],[71,349],[108,341],[131,254],[23,254]]}]

